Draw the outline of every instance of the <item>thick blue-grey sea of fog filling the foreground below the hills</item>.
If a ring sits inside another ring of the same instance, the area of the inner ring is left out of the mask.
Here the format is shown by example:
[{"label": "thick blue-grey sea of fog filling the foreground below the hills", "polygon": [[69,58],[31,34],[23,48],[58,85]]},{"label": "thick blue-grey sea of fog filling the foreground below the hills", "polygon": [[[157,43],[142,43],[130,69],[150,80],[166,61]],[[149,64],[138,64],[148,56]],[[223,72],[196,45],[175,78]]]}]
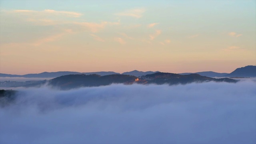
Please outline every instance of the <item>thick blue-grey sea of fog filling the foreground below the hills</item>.
[{"label": "thick blue-grey sea of fog filling the foreground below the hills", "polygon": [[1,144],[255,144],[256,81],[18,88]]}]

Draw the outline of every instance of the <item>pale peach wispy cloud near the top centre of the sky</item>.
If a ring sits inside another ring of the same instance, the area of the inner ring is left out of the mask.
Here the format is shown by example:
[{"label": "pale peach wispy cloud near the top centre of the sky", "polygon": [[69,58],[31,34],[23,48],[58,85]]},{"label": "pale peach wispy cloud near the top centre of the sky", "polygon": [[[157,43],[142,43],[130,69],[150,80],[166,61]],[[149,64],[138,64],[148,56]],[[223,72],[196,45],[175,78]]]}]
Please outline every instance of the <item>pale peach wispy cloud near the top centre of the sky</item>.
[{"label": "pale peach wispy cloud near the top centre of the sky", "polygon": [[124,12],[116,13],[116,16],[131,16],[134,18],[141,18],[142,14],[145,12],[145,8],[136,8],[132,10],[126,10]]}]

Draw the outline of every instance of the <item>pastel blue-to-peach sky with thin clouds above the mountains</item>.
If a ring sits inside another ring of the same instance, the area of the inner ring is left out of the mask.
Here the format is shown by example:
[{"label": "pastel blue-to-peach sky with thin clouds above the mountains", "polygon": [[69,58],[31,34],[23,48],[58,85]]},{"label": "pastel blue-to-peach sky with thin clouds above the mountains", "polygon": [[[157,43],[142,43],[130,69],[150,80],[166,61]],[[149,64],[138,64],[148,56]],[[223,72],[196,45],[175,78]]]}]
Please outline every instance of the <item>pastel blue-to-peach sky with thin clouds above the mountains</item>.
[{"label": "pastel blue-to-peach sky with thin clouds above the mountains", "polygon": [[256,65],[255,0],[0,0],[0,73],[247,65]]}]

